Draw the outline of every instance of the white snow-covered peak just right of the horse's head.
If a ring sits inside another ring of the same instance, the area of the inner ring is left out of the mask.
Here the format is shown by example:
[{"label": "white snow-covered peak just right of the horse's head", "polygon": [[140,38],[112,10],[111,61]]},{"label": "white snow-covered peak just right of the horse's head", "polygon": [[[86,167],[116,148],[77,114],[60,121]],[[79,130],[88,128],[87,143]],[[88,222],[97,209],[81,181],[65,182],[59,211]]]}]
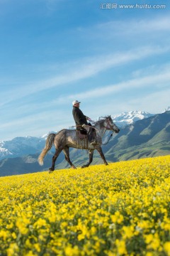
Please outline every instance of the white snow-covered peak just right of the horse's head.
[{"label": "white snow-covered peak just right of the horse's head", "polygon": [[113,115],[112,119],[113,122],[118,125],[118,127],[123,128],[128,124],[133,124],[134,122],[147,118],[152,117],[154,114],[150,114],[145,111],[130,111],[130,112],[123,112],[118,115]]}]

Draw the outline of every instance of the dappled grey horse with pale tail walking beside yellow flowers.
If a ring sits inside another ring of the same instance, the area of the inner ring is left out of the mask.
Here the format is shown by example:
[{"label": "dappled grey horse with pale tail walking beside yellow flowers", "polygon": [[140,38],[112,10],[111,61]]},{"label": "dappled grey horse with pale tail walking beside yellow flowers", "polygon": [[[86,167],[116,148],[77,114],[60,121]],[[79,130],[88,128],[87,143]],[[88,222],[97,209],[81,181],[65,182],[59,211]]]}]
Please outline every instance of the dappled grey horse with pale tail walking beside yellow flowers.
[{"label": "dappled grey horse with pale tail walking beside yellow flowers", "polygon": [[47,151],[49,151],[52,145],[54,144],[55,155],[52,157],[52,166],[49,169],[49,172],[52,172],[55,170],[55,161],[57,160],[57,157],[59,156],[61,151],[64,152],[65,159],[69,163],[69,165],[72,167],[72,169],[76,169],[76,166],[72,164],[72,161],[69,158],[70,147],[75,149],[87,149],[89,151],[89,162],[84,166],[81,166],[81,168],[88,167],[91,164],[91,162],[93,161],[95,149],[100,154],[104,164],[108,165],[108,162],[106,161],[106,158],[101,149],[102,137],[105,134],[106,130],[111,130],[115,133],[118,133],[120,132],[120,129],[113,123],[111,116],[103,117],[102,119],[99,119],[98,121],[94,122],[92,129],[95,129],[96,131],[96,137],[95,137],[96,144],[91,144],[88,141],[87,136],[86,136],[86,143],[85,143],[85,139],[79,139],[79,137],[77,136],[76,129],[62,129],[60,132],[57,132],[57,134],[54,134],[54,133],[49,134],[45,143],[45,148],[42,149],[42,152],[38,157],[38,163],[41,166],[43,165],[43,159],[47,154]]}]

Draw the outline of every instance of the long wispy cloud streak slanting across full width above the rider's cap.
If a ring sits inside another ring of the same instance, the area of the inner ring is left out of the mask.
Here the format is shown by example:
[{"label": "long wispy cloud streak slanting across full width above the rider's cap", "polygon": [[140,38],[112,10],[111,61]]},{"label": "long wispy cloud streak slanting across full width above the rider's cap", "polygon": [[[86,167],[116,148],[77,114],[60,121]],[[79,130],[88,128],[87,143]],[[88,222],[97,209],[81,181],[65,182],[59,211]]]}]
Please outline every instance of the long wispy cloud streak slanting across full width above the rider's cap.
[{"label": "long wispy cloud streak slanting across full width above the rider's cap", "polygon": [[[8,88],[1,92],[1,105],[6,105],[8,102],[17,100],[21,97],[26,97],[31,94],[35,94],[42,90],[49,90],[52,87],[60,87],[63,85],[69,85],[72,82],[77,82],[85,78],[91,78],[92,76],[104,72],[109,68],[118,65],[127,65],[137,60],[148,58],[151,55],[159,55],[162,53],[169,53],[170,47],[142,47],[133,50],[128,50],[123,53],[115,53],[111,55],[101,55],[95,58],[89,58],[88,60],[82,60],[80,63],[70,68],[70,70],[56,77],[49,78],[47,80],[35,81],[28,84],[23,84],[17,89],[11,90],[8,93]],[[72,66],[72,63],[70,64]],[[109,90],[109,89],[108,89]],[[99,92],[98,92],[99,93]],[[4,99],[4,101],[3,101]]]}]

